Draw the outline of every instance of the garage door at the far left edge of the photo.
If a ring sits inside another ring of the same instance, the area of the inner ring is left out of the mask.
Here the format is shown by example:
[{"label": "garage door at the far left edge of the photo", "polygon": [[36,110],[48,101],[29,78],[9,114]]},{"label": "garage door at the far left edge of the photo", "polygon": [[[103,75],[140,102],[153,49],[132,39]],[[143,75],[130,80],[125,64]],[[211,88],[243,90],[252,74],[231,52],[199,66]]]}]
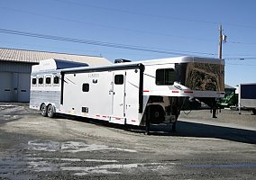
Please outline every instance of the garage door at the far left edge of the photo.
[{"label": "garage door at the far left edge of the photo", "polygon": [[0,101],[10,102],[12,100],[12,73],[0,72]]}]

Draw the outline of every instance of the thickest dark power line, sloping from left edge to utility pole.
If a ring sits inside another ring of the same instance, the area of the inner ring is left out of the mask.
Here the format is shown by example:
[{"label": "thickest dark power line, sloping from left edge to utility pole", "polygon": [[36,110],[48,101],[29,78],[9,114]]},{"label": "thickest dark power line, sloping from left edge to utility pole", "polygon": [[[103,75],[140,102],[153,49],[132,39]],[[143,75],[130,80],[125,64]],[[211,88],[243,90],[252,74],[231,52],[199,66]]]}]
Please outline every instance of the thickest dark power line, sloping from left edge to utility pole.
[{"label": "thickest dark power line, sloping from left edge to utility pole", "polygon": [[144,47],[144,46],[118,44],[118,43],[104,42],[104,41],[98,41],[98,40],[73,39],[73,38],[52,36],[52,35],[39,34],[39,33],[27,32],[27,31],[14,31],[14,30],[0,29],[0,32],[6,33],[6,34],[32,37],[32,38],[40,38],[45,40],[59,40],[59,41],[66,41],[66,42],[73,42],[73,43],[80,43],[80,44],[103,46],[108,48],[139,50],[139,51],[171,54],[171,55],[178,55],[178,56],[187,56],[191,54],[200,54],[200,55],[208,55],[208,56],[216,55],[214,53],[206,53],[206,52],[193,52],[193,51],[176,50],[176,49],[154,49],[154,48]]}]

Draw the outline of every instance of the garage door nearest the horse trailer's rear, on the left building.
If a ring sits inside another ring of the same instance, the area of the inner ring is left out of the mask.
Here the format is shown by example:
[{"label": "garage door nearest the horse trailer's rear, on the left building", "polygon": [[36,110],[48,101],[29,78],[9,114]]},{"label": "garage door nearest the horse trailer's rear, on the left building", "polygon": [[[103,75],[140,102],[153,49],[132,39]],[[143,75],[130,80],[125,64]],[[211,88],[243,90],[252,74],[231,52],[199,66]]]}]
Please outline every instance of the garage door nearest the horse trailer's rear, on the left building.
[{"label": "garage door nearest the horse trailer's rear, on the left building", "polygon": [[18,80],[18,102],[30,101],[31,78],[29,73],[19,73]]}]

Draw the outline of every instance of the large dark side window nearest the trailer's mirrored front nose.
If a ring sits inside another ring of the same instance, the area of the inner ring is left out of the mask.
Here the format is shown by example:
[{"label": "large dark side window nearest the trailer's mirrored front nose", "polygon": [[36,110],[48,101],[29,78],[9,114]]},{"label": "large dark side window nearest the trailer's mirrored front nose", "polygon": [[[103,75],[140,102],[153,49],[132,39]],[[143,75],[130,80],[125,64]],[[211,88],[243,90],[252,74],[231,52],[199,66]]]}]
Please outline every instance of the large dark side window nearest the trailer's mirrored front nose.
[{"label": "large dark side window nearest the trailer's mirrored front nose", "polygon": [[173,68],[161,68],[156,70],[156,85],[173,85],[175,72]]}]

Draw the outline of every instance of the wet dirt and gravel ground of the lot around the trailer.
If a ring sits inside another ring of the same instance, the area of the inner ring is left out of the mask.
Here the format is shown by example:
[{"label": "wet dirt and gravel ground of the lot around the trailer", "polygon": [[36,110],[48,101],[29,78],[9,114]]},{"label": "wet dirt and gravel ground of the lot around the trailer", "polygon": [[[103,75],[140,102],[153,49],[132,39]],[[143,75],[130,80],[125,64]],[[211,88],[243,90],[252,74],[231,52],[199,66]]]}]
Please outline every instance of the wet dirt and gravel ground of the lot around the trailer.
[{"label": "wet dirt and gravel ground of the lot around the trailer", "polygon": [[254,179],[256,116],[181,112],[178,132],[45,118],[0,103],[0,179]]}]

